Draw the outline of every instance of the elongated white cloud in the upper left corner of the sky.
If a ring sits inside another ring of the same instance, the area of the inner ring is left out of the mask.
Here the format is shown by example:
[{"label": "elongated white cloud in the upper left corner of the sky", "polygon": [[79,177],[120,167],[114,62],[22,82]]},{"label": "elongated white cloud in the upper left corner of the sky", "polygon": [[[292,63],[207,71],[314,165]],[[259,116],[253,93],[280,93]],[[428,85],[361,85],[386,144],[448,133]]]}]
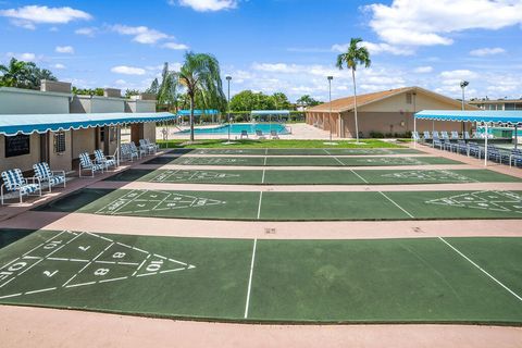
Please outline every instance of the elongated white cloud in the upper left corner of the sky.
[{"label": "elongated white cloud in the upper left corner of the sky", "polygon": [[67,24],[73,21],[89,21],[92,18],[87,12],[69,7],[48,8],[40,5],[0,10],[0,16],[9,17],[14,25],[27,29],[36,28],[36,24]]}]

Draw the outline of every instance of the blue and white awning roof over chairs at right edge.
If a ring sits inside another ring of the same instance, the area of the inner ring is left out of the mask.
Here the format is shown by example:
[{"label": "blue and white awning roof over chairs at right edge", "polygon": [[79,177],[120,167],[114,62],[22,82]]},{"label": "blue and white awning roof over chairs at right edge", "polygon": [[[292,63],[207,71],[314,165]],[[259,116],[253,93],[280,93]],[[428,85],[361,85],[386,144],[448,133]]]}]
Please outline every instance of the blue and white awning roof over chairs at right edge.
[{"label": "blue and white awning roof over chairs at right edge", "polygon": [[415,113],[415,119],[453,122],[476,122],[496,125],[522,125],[522,111],[423,110]]}]

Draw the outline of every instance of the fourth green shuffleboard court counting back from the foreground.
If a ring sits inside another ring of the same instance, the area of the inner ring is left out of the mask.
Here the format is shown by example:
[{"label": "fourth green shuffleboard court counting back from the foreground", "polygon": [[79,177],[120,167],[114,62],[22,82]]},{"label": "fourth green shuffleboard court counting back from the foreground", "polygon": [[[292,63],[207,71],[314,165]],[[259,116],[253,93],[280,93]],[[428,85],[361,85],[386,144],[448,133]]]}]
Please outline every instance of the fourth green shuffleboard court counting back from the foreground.
[{"label": "fourth green shuffleboard court counting back from the foreground", "polygon": [[146,164],[235,166],[387,166],[462,164],[440,157],[159,157]]}]

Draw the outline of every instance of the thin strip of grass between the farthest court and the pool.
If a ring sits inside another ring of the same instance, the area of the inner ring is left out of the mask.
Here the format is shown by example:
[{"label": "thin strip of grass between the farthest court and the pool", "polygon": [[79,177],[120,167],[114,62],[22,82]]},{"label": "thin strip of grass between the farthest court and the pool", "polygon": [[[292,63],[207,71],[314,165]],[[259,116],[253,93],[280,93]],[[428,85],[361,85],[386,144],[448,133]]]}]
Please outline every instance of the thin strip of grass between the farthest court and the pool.
[{"label": "thin strip of grass between the farthest court and the pool", "polygon": [[[221,139],[196,139],[195,144],[187,144],[187,140],[158,140],[157,142],[160,147],[165,148],[186,148],[186,149],[197,149],[197,148],[324,148],[324,141],[326,140],[234,140],[233,145],[223,145],[224,140]],[[338,145],[337,148],[401,148],[401,146],[396,145],[389,141],[383,141],[378,139],[361,139],[360,142],[355,144],[356,140],[336,140]],[[332,146],[328,146],[332,147]]]}]

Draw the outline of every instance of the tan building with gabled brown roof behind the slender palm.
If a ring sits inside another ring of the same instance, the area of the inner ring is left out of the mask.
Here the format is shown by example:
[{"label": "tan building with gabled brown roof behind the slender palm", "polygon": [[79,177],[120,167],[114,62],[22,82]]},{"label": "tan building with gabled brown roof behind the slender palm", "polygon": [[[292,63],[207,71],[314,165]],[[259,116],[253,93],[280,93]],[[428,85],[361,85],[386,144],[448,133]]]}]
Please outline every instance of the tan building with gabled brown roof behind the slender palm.
[{"label": "tan building with gabled brown roof behind the slender palm", "polygon": [[[413,130],[413,114],[421,110],[460,110],[460,101],[420,87],[403,87],[374,94],[357,96],[359,134],[369,137],[372,132],[383,135],[403,135]],[[324,130],[331,130],[340,137],[353,138],[356,124],[353,117],[353,97],[332,101],[309,108],[306,111],[307,123]],[[467,110],[477,110],[465,104]],[[339,122],[340,121],[340,122]],[[417,130],[458,130],[462,125],[455,122],[418,121]],[[470,129],[470,125],[467,125]]]}]

